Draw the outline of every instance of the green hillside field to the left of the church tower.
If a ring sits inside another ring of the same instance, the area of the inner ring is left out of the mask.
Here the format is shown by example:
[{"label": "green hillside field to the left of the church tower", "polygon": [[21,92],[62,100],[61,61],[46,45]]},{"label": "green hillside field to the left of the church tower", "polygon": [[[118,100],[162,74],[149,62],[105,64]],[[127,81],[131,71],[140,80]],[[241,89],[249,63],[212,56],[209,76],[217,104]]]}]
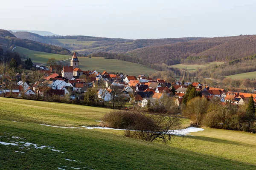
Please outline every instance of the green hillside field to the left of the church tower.
[{"label": "green hillside field to the left of the church tower", "polygon": [[16,46],[14,52],[18,52],[20,54],[24,54],[26,58],[31,58],[33,63],[36,64],[42,64],[46,63],[48,59],[50,58],[55,58],[56,60],[64,60],[71,58],[72,56],[67,56],[67,55],[60,55],[60,54],[52,54],[52,53],[45,53],[41,51],[33,51],[29,50],[27,48],[22,48],[19,46]]}]

